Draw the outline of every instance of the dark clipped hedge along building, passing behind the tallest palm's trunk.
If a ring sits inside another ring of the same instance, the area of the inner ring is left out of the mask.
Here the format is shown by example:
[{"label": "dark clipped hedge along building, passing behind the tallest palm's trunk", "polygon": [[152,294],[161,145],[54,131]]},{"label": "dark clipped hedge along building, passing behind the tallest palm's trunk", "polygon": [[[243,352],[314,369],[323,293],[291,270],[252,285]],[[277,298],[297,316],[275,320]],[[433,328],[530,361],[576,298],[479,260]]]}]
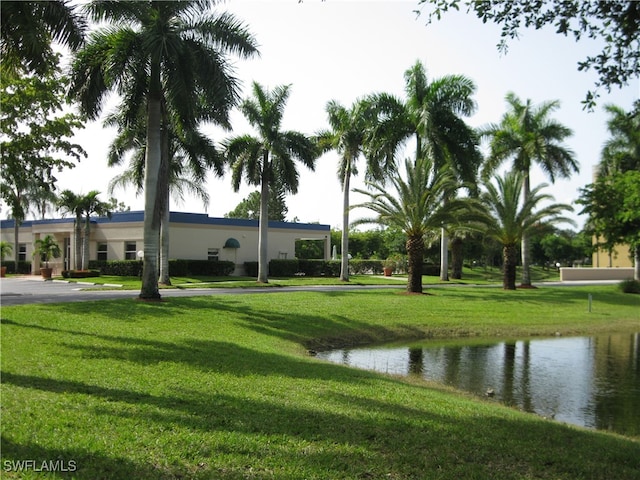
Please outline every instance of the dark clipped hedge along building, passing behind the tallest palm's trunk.
[{"label": "dark clipped hedge along building, passing behind the tallest palm's trunk", "polygon": [[[102,275],[139,277],[142,275],[142,260],[92,260],[89,268],[100,270]],[[189,275],[227,276],[233,273],[233,262],[211,260],[169,260],[169,272],[175,277]]]}]

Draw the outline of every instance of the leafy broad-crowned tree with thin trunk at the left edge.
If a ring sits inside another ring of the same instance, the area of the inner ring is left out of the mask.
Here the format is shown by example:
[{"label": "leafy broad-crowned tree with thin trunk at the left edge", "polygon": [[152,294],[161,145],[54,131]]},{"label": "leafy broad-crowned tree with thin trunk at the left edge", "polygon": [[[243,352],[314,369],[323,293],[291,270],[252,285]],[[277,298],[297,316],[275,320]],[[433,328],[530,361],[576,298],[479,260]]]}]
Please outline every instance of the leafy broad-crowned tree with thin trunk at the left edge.
[{"label": "leafy broad-crowned tree with thin trunk at the left edge", "polygon": [[[40,77],[2,76],[1,81],[0,194],[15,220],[17,245],[18,228],[29,207],[55,190],[56,172],[74,167],[86,153],[69,140],[83,123],[78,115],[62,113],[67,84],[57,69]],[[17,248],[14,253],[17,271]]]}]

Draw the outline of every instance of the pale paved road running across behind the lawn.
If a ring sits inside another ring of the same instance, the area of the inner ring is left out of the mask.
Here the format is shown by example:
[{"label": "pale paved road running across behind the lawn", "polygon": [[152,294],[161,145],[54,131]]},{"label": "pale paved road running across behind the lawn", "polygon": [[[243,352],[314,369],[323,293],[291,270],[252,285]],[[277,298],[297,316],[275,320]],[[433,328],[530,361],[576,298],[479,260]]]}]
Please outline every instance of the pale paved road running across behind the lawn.
[{"label": "pale paved road running across behind the lawn", "polygon": [[[546,286],[579,286],[579,285],[607,285],[619,283],[617,280],[602,282],[547,282]],[[427,285],[431,288],[469,287],[462,284]],[[500,285],[493,285],[500,287]],[[87,290],[91,288],[91,290]],[[344,290],[373,290],[387,288],[405,288],[404,282],[398,285],[318,285],[281,288],[189,288],[164,289],[160,292],[163,298],[194,297],[206,295],[229,295],[239,293],[276,293],[299,291],[336,292]],[[117,298],[136,298],[137,290],[118,290],[113,286],[101,287],[90,283],[71,283],[65,281],[43,281],[38,276],[6,277],[0,280],[0,303],[7,305],[26,305],[30,303],[60,303],[84,302],[89,300],[109,300]]]}]

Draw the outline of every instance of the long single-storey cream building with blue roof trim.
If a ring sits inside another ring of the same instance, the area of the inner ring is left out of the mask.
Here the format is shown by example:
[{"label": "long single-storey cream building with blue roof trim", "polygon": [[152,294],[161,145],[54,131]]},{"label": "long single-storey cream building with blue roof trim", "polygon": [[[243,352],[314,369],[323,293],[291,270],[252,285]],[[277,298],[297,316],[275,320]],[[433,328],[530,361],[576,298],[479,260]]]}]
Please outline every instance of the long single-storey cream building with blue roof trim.
[{"label": "long single-storey cream building with blue roof trim", "polygon": [[[144,248],[144,212],[114,213],[111,218],[91,219],[90,260],[135,260]],[[27,220],[20,225],[18,260],[32,261],[39,272],[40,261],[33,257],[34,242],[52,235],[62,249],[62,257],[49,262],[59,275],[75,264],[74,218]],[[0,239],[14,243],[14,220],[0,222]],[[269,260],[295,258],[297,240],[324,241],[324,258],[331,256],[329,225],[269,222]],[[244,263],[258,260],[258,221],[215,218],[201,213],[171,212],[169,258],[186,260],[226,260],[236,265],[234,274],[244,273]],[[9,259],[5,259],[9,261]]]}]

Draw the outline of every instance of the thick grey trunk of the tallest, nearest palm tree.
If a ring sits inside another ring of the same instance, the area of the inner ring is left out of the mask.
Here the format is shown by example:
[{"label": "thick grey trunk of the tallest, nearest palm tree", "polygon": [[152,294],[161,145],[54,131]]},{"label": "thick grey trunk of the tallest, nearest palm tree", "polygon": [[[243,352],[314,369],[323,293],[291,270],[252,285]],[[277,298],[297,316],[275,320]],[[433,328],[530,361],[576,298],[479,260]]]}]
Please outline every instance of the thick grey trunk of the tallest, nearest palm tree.
[{"label": "thick grey trunk of the tallest, nearest palm tree", "polygon": [[159,300],[158,246],[160,243],[160,209],[158,179],[161,164],[161,88],[160,65],[154,62],[148,97],[147,148],[144,166],[144,262],[139,298]]}]

